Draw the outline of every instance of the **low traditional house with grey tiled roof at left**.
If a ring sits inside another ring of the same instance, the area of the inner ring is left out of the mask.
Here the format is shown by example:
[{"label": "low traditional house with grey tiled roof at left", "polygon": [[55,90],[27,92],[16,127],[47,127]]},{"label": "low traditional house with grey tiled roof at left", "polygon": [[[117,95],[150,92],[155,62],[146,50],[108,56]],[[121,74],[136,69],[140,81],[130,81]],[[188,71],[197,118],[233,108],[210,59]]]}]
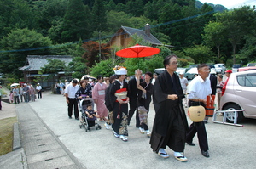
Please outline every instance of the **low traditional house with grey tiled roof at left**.
[{"label": "low traditional house with grey tiled roof at left", "polygon": [[[35,84],[36,82],[34,80],[38,77],[41,86],[44,88],[48,88],[52,87],[55,82],[61,79],[71,80],[72,77],[66,76],[64,71],[57,72],[54,75],[39,75],[38,70],[41,70],[44,65],[48,64],[47,59],[59,59],[61,61],[64,61],[65,65],[67,66],[73,58],[71,56],[63,55],[28,55],[26,58],[26,65],[19,68],[19,70],[23,71],[24,81]],[[45,80],[45,76],[50,76],[50,78],[47,78],[48,80]]]}]

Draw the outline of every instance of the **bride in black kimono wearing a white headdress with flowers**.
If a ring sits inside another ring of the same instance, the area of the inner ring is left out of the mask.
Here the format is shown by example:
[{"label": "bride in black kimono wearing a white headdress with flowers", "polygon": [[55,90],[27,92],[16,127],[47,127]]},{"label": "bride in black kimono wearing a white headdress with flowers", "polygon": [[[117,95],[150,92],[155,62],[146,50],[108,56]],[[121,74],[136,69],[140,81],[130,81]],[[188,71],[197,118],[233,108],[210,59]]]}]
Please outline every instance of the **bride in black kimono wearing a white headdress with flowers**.
[{"label": "bride in black kimono wearing a white headdress with flowers", "polygon": [[127,70],[123,66],[115,66],[113,68],[117,79],[110,86],[109,99],[113,107],[113,135],[116,138],[121,138],[124,142],[128,141],[127,117],[128,103],[127,97],[128,84],[125,82]]}]

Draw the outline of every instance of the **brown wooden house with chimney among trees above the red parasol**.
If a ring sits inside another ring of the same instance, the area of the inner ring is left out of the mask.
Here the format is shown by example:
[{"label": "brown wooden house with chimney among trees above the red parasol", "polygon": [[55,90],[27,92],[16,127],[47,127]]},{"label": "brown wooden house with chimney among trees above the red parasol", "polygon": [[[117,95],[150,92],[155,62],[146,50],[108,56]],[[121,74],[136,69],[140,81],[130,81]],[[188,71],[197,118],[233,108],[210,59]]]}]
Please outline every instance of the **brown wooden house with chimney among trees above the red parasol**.
[{"label": "brown wooden house with chimney among trees above the red parasol", "polygon": [[143,37],[143,41],[150,43],[152,47],[164,45],[151,34],[149,24],[145,25],[145,30],[121,26],[108,43],[110,46],[126,48],[132,42],[135,35]]}]

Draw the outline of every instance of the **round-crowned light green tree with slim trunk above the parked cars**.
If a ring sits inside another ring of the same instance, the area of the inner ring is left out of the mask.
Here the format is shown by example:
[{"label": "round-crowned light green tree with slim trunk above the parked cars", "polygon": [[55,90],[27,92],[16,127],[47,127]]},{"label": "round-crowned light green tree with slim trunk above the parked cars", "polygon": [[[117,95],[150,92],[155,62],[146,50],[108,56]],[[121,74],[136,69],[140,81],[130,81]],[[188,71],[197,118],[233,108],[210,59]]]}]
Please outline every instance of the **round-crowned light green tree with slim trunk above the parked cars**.
[{"label": "round-crowned light green tree with slim trunk above the parked cars", "polygon": [[224,25],[220,22],[209,22],[204,28],[202,35],[204,42],[209,46],[215,46],[218,49],[218,59],[220,59],[220,46],[225,41]]}]

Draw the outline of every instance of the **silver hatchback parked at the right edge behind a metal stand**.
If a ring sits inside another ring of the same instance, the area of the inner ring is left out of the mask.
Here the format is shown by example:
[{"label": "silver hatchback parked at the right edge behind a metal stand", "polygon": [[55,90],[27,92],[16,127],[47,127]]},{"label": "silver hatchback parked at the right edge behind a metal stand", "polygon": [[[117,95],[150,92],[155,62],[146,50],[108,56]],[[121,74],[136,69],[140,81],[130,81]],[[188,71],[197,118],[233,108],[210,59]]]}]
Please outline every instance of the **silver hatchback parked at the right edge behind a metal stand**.
[{"label": "silver hatchback parked at the right edge behind a metal stand", "polygon": [[256,70],[232,73],[224,94],[220,100],[221,110],[234,110],[228,112],[226,121],[233,123],[235,110],[239,111],[237,122],[244,117],[256,119]]}]

